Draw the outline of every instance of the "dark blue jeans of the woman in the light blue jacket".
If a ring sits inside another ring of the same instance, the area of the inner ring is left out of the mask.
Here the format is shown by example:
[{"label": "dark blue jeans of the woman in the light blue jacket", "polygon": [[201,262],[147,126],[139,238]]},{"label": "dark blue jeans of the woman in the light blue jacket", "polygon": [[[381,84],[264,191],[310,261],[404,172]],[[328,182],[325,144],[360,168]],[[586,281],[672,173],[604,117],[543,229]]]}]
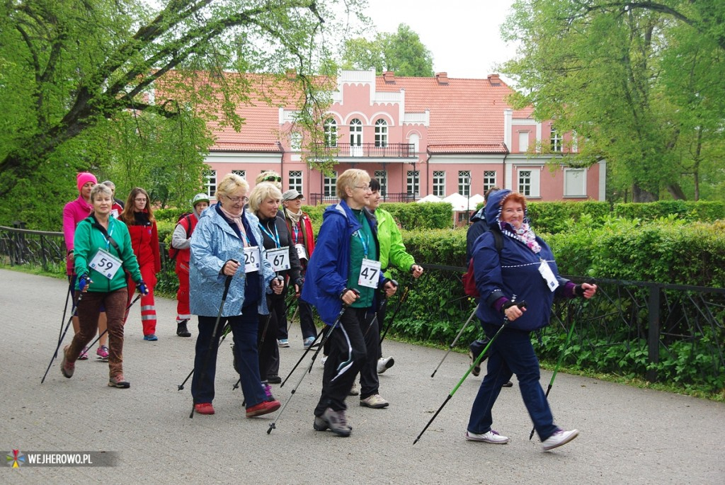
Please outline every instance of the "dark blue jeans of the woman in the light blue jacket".
[{"label": "dark blue jeans of the woman in the light blue jacket", "polygon": [[[236,361],[239,365],[241,391],[244,393],[244,399],[247,400],[247,407],[258,405],[267,396],[260,381],[260,366],[257,357],[257,305],[250,304],[248,307],[244,307],[242,315],[220,318],[216,338],[212,341],[216,320],[216,317],[199,315],[199,337],[196,339],[194,377],[191,379],[191,396],[194,398],[194,404],[214,400],[217,349],[224,325],[229,322],[234,338]],[[211,352],[209,352],[210,346],[212,347]],[[205,371],[204,366],[206,366]],[[204,373],[203,378],[202,373]]]}]

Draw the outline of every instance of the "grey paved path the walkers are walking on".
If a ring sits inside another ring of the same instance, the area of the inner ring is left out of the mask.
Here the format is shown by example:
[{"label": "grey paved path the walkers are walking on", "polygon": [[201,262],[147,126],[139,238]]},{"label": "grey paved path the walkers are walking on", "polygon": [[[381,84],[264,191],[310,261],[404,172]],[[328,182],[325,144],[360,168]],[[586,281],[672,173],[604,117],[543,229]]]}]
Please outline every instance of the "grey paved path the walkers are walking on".
[{"label": "grey paved path the walkers are walking on", "polygon": [[[175,335],[175,302],[157,299],[159,341],[141,339],[138,304],[125,329],[124,369],[130,389],[106,386],[107,364],[78,362],[64,378],[59,360],[41,377],[62,318],[65,282],[0,270],[3,329],[0,355],[0,449],[112,451],[114,468],[5,467],[4,484],[725,484],[725,405],[634,389],[560,373],[551,403],[557,423],[579,428],[571,444],[542,452],[517,386],[503,389],[494,428],[510,444],[463,439],[480,378],[469,377],[418,444],[415,436],[465,372],[468,359],[386,341],[396,364],[381,376],[384,410],[350,397],[347,439],[312,429],[322,367],[315,363],[289,406],[247,419],[231,350],[223,344],[217,373],[216,415],[189,419],[191,394],[178,391],[192,368],[193,337]],[[69,334],[72,333],[72,330]],[[281,349],[286,376],[302,355],[299,327]],[[70,335],[65,343],[70,343]],[[276,397],[284,404],[299,370]],[[542,373],[544,386],[550,373]]]}]

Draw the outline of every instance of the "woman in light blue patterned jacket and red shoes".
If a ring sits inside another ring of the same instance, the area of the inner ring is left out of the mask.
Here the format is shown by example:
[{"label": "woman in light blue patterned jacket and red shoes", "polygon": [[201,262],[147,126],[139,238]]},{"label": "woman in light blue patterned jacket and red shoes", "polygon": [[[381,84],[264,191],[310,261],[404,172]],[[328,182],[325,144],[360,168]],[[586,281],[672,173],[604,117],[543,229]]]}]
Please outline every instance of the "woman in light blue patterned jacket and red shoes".
[{"label": "woman in light blue patterned jacket and red shoes", "polygon": [[[223,178],[216,193],[218,204],[204,211],[191,235],[189,304],[191,313],[199,315],[191,396],[199,414],[214,414],[217,348],[225,323],[231,327],[234,338],[247,418],[272,413],[280,407],[260,381],[257,315],[269,313],[265,294],[280,293],[283,285],[267,261],[257,217],[244,211],[248,191],[247,181],[239,175]],[[228,277],[231,284],[214,335]]]}]

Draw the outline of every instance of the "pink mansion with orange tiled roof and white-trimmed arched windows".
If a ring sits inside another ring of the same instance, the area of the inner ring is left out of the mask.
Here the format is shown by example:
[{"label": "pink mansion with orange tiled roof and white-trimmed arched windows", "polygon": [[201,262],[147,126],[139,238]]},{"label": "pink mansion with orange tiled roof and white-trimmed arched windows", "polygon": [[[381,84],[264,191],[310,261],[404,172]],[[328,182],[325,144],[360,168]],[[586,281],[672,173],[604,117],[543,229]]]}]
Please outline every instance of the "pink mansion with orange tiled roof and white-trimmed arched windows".
[{"label": "pink mansion with orange tiled roof and white-trimmed arched windows", "polygon": [[207,190],[239,173],[252,185],[265,170],[282,175],[307,204],[333,200],[336,174],[362,168],[383,186],[386,201],[429,194],[484,194],[491,186],[529,199],[604,200],[606,164],[568,167],[576,151],[571,136],[537,123],[532,109],[513,110],[513,90],[498,75],[486,79],[397,78],[386,72],[342,71],[325,123],[326,148],[338,165],[331,176],[303,161],[302,135],[293,130],[294,109],[259,103],[239,107],[241,133],[215,127],[217,141],[206,159]]}]

